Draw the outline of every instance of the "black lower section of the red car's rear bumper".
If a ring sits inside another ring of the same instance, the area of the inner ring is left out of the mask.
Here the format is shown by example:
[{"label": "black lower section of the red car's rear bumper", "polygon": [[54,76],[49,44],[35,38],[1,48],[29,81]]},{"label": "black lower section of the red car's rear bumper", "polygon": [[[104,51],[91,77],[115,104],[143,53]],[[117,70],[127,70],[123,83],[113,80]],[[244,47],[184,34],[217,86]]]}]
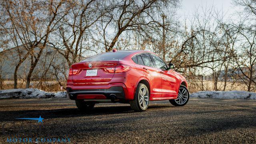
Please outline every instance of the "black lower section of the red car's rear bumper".
[{"label": "black lower section of the red car's rear bumper", "polygon": [[67,88],[68,97],[71,100],[125,100],[125,93],[122,86],[112,86],[106,89],[72,89]]}]

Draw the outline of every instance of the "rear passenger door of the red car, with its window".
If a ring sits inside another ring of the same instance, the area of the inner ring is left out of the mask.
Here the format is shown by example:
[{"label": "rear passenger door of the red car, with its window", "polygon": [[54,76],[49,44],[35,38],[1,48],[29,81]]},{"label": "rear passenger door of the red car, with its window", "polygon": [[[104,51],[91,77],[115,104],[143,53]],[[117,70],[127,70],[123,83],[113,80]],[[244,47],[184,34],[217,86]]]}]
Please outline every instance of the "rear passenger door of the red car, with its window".
[{"label": "rear passenger door of the red car, with its window", "polygon": [[150,100],[161,98],[161,75],[160,71],[154,67],[154,63],[149,53],[137,55],[138,63],[142,66],[143,72],[150,82]]}]

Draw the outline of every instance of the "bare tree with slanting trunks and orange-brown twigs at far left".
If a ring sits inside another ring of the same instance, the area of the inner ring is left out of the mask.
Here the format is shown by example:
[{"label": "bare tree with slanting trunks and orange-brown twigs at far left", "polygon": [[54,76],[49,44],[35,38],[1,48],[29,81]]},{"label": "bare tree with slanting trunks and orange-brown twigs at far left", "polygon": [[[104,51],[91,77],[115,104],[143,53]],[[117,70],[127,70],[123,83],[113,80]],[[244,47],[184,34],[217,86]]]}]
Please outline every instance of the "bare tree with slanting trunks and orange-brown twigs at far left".
[{"label": "bare tree with slanting trunks and orange-brown twigs at far left", "polygon": [[[12,38],[14,38],[14,42],[17,46],[22,44],[27,51],[23,58],[20,57],[16,66],[17,69],[28,55],[30,56],[31,65],[26,77],[26,88],[30,86],[32,73],[46,46],[50,33],[62,18],[65,11],[62,8],[64,3],[64,0],[44,2],[7,0],[1,2],[13,28]],[[41,12],[40,15],[37,14],[38,12]],[[20,53],[20,49],[17,50]],[[16,88],[16,85],[14,87]]]}]

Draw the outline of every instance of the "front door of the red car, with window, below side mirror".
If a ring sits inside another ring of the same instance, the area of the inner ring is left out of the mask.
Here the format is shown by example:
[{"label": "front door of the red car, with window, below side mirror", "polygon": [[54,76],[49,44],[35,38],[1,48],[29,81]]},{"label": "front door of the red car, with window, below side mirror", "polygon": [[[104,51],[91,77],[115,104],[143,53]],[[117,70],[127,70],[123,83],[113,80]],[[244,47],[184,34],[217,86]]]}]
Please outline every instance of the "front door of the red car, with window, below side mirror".
[{"label": "front door of the red car, with window, below side mirror", "polygon": [[154,64],[156,68],[160,71],[160,75],[162,78],[162,98],[171,98],[176,95],[176,78],[173,73],[173,70],[166,70],[166,63],[155,54],[150,54],[152,59],[154,60]]}]

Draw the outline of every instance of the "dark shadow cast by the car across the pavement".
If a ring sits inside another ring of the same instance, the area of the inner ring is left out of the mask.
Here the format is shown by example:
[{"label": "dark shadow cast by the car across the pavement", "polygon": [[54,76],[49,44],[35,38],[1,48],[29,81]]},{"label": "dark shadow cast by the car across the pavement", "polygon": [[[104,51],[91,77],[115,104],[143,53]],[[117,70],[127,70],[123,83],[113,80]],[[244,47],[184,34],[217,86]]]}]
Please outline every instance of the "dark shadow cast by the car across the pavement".
[{"label": "dark shadow cast by the car across the pavement", "polygon": [[[171,106],[158,105],[149,106],[148,110],[156,108],[168,108]],[[49,110],[13,110],[13,111],[1,111],[0,122],[15,121],[16,118],[67,118],[78,116],[96,116],[106,114],[128,114],[134,113],[130,106],[100,106],[93,108],[90,112],[84,112],[78,108],[59,108]]]}]

